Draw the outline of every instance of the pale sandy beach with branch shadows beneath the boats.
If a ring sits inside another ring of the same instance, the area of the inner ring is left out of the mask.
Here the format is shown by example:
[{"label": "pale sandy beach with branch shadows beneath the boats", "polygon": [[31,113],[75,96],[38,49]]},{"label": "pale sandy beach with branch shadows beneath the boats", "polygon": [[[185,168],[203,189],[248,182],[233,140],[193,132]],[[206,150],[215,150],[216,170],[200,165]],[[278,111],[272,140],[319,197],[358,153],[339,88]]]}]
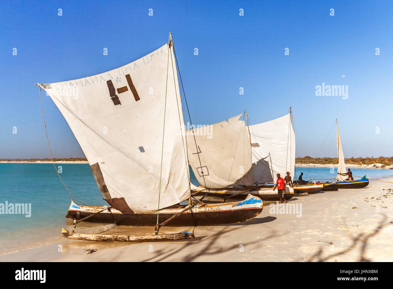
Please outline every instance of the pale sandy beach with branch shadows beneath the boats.
[{"label": "pale sandy beach with branch shadows beneath the boats", "polygon": [[[393,182],[393,177],[384,180]],[[244,223],[196,227],[192,240],[93,243],[59,237],[52,245],[3,255],[0,261],[392,261],[392,202],[392,184],[374,181],[367,188],[294,197],[286,210],[292,206],[295,214],[277,214],[267,202],[258,217]],[[106,233],[136,232],[153,233],[153,228],[119,226]],[[99,250],[86,255],[84,249]]]}]

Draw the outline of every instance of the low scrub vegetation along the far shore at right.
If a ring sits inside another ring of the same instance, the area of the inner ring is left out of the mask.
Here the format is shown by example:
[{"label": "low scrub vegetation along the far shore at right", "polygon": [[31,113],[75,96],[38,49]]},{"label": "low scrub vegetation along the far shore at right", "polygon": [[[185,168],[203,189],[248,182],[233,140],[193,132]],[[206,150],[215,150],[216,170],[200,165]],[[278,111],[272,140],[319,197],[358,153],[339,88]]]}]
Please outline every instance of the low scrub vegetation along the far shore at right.
[{"label": "low scrub vegetation along the far shore at right", "polygon": [[[338,164],[338,158],[312,158],[311,156],[305,156],[304,158],[296,158],[297,164]],[[358,165],[372,165],[372,164],[383,164],[383,166],[391,166],[393,164],[392,157],[380,156],[374,158],[368,156],[366,158],[345,158],[345,164],[358,164]]]}]

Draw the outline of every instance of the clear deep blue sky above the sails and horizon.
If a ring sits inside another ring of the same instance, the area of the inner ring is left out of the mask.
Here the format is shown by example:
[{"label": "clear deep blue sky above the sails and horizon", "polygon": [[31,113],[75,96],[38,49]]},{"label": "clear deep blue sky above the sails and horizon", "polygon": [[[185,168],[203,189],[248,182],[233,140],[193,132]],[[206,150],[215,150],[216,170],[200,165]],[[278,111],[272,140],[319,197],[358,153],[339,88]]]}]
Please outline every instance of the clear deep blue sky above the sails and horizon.
[{"label": "clear deep blue sky above the sails and horizon", "polygon": [[[169,32],[193,123],[246,108],[255,124],[292,106],[296,156],[336,157],[336,118],[345,157],[393,155],[392,1],[1,1],[0,9],[0,158],[49,157],[35,83],[117,68]],[[347,85],[348,98],[316,96],[322,83]],[[83,157],[42,96],[53,156]]]}]

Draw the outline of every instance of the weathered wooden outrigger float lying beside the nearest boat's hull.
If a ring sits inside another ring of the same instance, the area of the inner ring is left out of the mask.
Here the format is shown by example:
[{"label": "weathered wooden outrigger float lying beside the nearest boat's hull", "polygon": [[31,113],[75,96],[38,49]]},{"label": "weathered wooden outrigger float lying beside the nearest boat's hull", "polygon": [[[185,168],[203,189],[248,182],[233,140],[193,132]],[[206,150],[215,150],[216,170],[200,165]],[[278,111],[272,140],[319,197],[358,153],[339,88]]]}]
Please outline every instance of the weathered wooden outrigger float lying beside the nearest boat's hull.
[{"label": "weathered wooden outrigger float lying beside the nearest boat's hull", "polygon": [[193,239],[194,228],[178,234],[157,234],[157,235],[101,235],[101,234],[79,234],[70,233],[62,228],[61,236],[73,240],[101,241],[101,242],[157,242]]}]

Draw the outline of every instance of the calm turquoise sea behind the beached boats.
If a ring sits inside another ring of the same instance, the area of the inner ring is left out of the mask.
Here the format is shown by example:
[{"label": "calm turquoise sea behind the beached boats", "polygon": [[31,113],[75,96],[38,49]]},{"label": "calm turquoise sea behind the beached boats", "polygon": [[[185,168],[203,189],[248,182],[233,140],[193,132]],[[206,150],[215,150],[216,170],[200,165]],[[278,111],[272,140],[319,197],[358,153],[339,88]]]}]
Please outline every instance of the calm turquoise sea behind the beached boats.
[{"label": "calm turquoise sea behind the beached boats", "polygon": [[[87,205],[103,205],[88,164],[56,164],[70,191]],[[330,168],[297,168],[304,180],[331,179]],[[390,169],[353,169],[354,175],[378,179],[393,175]],[[191,180],[198,184],[191,171]],[[31,217],[0,214],[0,255],[17,250],[49,245],[59,240],[61,227],[72,221],[64,216],[71,195],[59,179],[53,164],[0,164],[0,203],[31,203]],[[82,223],[81,223],[82,224]]]}]

